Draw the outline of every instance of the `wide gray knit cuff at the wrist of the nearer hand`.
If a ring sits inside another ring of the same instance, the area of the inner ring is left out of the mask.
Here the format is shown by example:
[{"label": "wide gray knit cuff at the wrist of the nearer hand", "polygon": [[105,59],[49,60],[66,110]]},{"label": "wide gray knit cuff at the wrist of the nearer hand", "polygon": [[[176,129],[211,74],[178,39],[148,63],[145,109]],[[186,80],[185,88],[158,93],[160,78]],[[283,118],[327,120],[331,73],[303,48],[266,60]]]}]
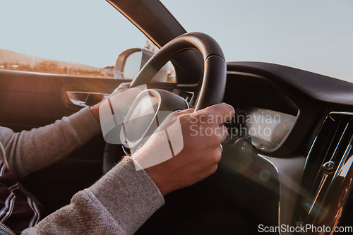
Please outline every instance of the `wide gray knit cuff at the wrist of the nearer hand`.
[{"label": "wide gray knit cuff at the wrist of the nearer hand", "polygon": [[136,171],[130,157],[124,157],[87,190],[107,208],[127,234],[137,231],[164,204],[164,198],[150,176],[144,170]]}]

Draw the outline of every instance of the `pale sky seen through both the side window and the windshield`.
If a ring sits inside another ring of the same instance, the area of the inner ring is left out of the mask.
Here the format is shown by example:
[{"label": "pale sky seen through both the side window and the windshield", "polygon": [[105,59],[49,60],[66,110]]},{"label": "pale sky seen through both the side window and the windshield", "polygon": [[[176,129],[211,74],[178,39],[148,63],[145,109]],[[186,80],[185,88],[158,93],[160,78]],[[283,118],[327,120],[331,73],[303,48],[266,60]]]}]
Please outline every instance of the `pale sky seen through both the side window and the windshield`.
[{"label": "pale sky seen through both the side window and the windshield", "polygon": [[[186,31],[214,37],[227,61],[283,64],[353,82],[351,0],[162,3]],[[0,6],[0,49],[104,67],[146,44],[104,0],[0,0]]]}]

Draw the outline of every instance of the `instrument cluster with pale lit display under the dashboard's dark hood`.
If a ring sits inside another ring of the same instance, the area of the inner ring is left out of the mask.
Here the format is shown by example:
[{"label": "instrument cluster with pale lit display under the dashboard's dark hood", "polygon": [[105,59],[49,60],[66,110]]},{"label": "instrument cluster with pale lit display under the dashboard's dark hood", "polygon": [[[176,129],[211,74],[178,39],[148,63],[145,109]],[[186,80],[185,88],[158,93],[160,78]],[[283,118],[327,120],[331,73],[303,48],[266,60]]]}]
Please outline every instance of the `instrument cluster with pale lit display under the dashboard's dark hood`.
[{"label": "instrument cluster with pale lit display under the dashboard's dark hood", "polygon": [[227,88],[232,90],[227,89],[225,102],[236,111],[226,123],[227,139],[251,138],[261,152],[277,152],[297,123],[297,105],[264,77],[249,73],[228,72]]}]

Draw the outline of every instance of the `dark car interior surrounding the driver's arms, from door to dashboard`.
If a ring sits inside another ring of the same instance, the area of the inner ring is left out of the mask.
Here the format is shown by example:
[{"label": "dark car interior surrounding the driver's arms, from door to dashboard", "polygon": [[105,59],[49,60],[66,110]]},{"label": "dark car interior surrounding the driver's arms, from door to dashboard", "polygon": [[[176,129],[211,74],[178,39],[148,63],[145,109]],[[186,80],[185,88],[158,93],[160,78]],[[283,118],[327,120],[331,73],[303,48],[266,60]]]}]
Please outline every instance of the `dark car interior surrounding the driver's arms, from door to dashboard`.
[{"label": "dark car interior surrounding the driver's arms, from door to dashboard", "polygon": [[[179,49],[174,39],[186,30],[160,1],[108,2],[161,48],[152,58],[162,58],[162,62],[152,75],[140,72],[139,83],[172,92],[200,109],[226,102],[236,111],[225,123],[229,135],[222,143],[224,151],[215,174],[166,195],[165,205],[136,234],[257,234],[259,224],[352,226],[352,83],[263,62],[227,61],[210,66],[205,57],[218,53],[215,41],[201,34],[201,41],[193,46],[184,43]],[[222,50],[218,54],[222,56]],[[175,68],[177,83],[150,81],[166,60]],[[222,71],[224,80],[216,78]],[[207,89],[201,89],[207,79]],[[122,77],[0,69],[0,126],[23,131],[54,123],[100,102],[125,82]],[[239,145],[244,143],[251,145],[250,152],[241,152]],[[100,179],[126,155],[124,151],[121,145],[105,143],[100,133],[70,157],[20,183],[40,201],[46,216]]]}]

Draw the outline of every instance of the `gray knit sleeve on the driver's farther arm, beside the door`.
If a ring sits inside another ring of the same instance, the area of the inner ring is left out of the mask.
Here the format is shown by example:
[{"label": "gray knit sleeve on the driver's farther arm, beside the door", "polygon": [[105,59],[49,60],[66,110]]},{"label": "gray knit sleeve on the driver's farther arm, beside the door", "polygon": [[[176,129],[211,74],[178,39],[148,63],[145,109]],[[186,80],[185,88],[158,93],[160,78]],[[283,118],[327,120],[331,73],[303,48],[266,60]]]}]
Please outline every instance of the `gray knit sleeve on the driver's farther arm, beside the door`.
[{"label": "gray knit sleeve on the driver's farther arm, beside the door", "polygon": [[100,133],[100,124],[88,107],[51,125],[14,133],[0,127],[1,160],[17,177],[49,166]]}]

